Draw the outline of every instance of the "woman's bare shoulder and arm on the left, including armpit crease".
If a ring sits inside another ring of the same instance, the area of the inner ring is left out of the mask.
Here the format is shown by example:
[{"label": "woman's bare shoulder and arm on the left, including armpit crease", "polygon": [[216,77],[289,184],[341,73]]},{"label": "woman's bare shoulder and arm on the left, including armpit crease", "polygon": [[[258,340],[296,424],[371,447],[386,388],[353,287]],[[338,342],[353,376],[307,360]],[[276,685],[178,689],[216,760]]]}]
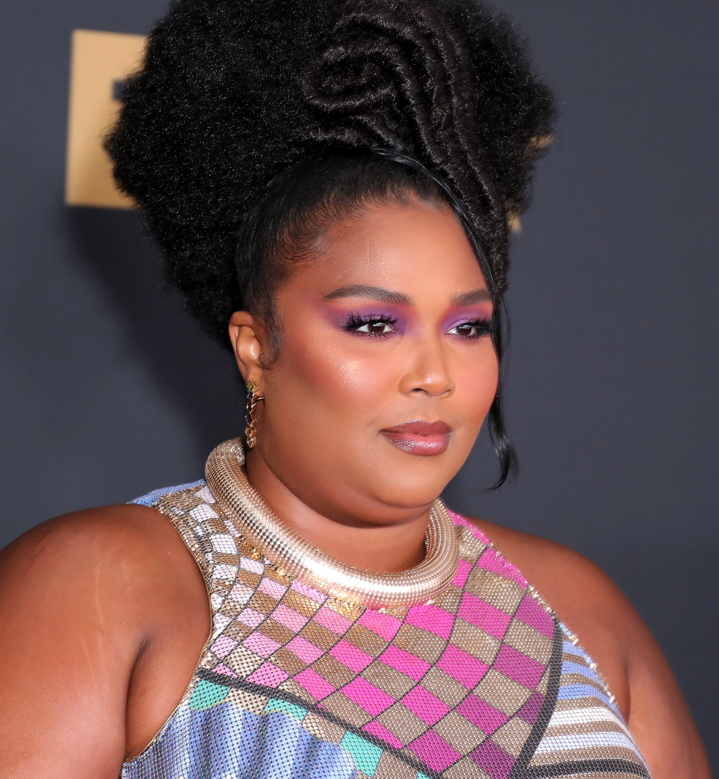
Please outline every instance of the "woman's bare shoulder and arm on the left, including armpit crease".
[{"label": "woman's bare shoulder and arm on the left, including armpit crease", "polygon": [[202,576],[154,509],[17,538],[0,552],[0,774],[117,777],[177,705],[208,628]]}]

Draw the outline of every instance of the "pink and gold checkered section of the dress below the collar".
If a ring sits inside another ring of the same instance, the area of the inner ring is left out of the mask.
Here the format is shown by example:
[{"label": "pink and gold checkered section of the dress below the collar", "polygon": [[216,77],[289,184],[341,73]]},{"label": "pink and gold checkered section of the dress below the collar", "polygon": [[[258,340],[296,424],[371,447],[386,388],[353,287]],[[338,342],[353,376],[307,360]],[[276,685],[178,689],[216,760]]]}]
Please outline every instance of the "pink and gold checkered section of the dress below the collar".
[{"label": "pink and gold checkered section of the dress below the collar", "polygon": [[293,696],[430,773],[507,779],[542,707],[555,618],[472,523],[451,513],[451,587],[398,616],[281,576],[250,556],[206,487],[193,495],[189,509],[174,495],[172,515],[208,576],[204,668]]}]

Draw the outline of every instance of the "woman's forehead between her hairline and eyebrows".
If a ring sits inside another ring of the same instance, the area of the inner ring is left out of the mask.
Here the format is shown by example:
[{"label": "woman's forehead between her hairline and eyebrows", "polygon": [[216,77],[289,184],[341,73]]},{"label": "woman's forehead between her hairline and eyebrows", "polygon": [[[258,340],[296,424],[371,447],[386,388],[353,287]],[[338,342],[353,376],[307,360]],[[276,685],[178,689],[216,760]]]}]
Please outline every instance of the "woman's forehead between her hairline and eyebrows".
[{"label": "woman's forehead between her hairline and eyebrows", "polygon": [[316,252],[315,262],[293,274],[288,286],[295,291],[327,294],[346,284],[371,284],[421,301],[486,287],[449,206],[419,201],[367,206],[331,224]]}]

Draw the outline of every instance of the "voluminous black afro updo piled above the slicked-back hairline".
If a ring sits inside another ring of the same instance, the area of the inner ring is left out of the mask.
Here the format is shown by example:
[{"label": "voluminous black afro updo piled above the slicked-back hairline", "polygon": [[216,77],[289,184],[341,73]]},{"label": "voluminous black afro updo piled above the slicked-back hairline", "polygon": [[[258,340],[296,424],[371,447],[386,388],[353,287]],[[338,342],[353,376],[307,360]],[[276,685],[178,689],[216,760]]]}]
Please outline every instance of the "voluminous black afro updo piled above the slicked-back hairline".
[{"label": "voluminous black afro updo piled above the slicked-back hairline", "polygon": [[433,171],[501,294],[507,220],[528,204],[554,118],[524,42],[474,0],[175,0],[121,100],[115,178],[221,339],[243,302],[244,217],[312,155],[386,149]]}]

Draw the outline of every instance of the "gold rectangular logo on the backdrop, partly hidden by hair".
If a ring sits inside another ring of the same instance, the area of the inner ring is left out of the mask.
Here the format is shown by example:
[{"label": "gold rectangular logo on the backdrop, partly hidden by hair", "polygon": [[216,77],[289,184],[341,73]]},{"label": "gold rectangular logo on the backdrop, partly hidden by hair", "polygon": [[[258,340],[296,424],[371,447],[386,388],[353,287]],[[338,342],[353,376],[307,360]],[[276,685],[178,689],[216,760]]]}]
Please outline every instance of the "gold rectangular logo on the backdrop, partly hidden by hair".
[{"label": "gold rectangular logo on the backdrop, partly hidden by hair", "polygon": [[119,85],[142,60],[142,35],[73,30],[65,203],[132,208],[115,187],[103,136],[117,117]]}]

